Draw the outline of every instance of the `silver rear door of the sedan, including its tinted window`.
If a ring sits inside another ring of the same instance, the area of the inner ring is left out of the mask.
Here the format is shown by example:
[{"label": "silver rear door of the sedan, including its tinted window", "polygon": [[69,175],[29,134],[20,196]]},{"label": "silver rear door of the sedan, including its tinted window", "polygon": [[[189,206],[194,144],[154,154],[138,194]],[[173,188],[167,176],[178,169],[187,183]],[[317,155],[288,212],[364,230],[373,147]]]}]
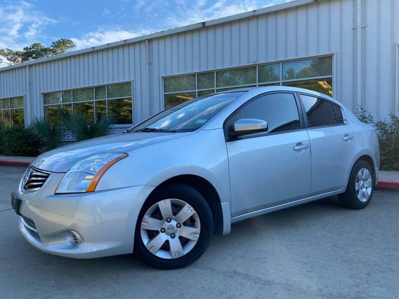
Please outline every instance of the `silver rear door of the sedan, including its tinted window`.
[{"label": "silver rear door of the sedan, including its tinted window", "polygon": [[356,153],[355,132],[337,104],[300,94],[312,153],[310,195],[341,189]]}]

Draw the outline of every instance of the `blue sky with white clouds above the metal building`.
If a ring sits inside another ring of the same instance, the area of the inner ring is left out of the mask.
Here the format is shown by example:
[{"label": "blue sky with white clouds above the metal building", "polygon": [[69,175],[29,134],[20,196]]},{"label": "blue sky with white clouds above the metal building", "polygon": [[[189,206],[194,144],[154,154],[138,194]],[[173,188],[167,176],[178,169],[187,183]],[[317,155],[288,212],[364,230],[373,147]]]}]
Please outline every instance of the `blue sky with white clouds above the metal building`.
[{"label": "blue sky with white clouds above the metal building", "polygon": [[0,49],[70,38],[77,49],[288,0],[0,0]]}]

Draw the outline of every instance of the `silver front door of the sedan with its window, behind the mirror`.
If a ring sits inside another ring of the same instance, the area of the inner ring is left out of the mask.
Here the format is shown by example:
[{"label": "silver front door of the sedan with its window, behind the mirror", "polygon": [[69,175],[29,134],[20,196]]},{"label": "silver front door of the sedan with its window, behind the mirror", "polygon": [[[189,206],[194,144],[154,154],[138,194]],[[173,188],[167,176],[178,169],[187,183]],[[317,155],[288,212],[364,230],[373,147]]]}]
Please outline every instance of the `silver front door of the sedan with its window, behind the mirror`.
[{"label": "silver front door of the sedan with its window, behind the mirror", "polygon": [[310,145],[298,107],[293,93],[266,94],[231,116],[268,123],[266,133],[227,141],[233,217],[309,195]]}]

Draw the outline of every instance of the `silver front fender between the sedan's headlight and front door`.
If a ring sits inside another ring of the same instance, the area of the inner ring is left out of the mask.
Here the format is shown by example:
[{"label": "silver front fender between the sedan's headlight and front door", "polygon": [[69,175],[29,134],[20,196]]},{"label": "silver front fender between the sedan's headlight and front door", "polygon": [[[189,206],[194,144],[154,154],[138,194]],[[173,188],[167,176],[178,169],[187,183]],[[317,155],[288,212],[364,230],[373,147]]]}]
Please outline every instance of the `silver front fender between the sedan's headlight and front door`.
[{"label": "silver front fender between the sedan's headlight and front door", "polygon": [[192,174],[209,181],[220,202],[230,202],[228,160],[222,129],[182,134],[173,142],[152,144],[151,150],[143,146],[128,154],[104,173],[96,191],[132,184],[158,186],[174,176]]}]

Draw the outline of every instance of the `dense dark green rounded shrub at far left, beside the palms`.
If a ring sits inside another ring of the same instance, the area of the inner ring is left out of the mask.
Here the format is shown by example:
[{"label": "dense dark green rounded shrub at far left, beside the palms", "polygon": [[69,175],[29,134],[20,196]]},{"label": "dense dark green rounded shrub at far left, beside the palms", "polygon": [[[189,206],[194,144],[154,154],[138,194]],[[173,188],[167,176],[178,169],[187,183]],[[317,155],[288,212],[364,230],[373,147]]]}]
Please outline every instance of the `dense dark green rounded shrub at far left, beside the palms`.
[{"label": "dense dark green rounded shrub at far left, beside the palms", "polygon": [[0,129],[1,153],[13,156],[36,156],[40,142],[37,136],[24,127]]}]

